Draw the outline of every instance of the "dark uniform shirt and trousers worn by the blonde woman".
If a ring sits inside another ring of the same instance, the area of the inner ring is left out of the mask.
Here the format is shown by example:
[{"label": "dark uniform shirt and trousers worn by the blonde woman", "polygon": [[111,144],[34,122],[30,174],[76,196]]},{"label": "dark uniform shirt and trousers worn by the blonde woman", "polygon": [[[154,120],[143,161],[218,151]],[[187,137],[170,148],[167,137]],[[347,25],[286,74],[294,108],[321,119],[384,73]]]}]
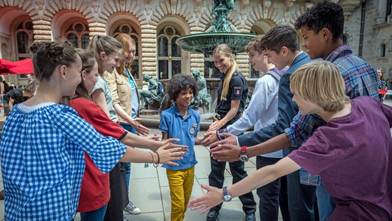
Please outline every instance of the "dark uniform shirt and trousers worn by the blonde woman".
[{"label": "dark uniform shirt and trousers worn by the blonde woman", "polygon": [[[223,81],[225,75],[222,74],[221,81],[219,83],[218,94],[217,94],[217,108],[216,108],[216,117],[217,119],[222,119],[226,116],[228,111],[231,109],[231,101],[235,99],[240,99],[238,112],[233,117],[233,119],[229,120],[221,129],[226,128],[228,125],[233,124],[239,117],[241,117],[242,112],[245,109],[246,97],[248,95],[248,84],[246,84],[246,79],[242,73],[235,72],[231,77],[230,84],[228,86],[228,93],[226,97],[221,99],[222,89],[223,89]],[[222,188],[224,184],[224,170],[226,168],[226,162],[218,162],[210,157],[211,163],[211,171],[210,175],[208,175],[208,182],[210,186],[215,186],[217,188]],[[247,176],[246,171],[244,170],[244,162],[236,161],[229,162],[231,174],[233,175],[233,184],[239,182],[244,177]],[[244,195],[239,196],[239,200],[242,202],[242,209],[245,213],[255,213],[256,211],[256,203],[253,199],[252,192],[245,193]],[[219,211],[222,208],[222,203],[213,207],[213,210]]]}]

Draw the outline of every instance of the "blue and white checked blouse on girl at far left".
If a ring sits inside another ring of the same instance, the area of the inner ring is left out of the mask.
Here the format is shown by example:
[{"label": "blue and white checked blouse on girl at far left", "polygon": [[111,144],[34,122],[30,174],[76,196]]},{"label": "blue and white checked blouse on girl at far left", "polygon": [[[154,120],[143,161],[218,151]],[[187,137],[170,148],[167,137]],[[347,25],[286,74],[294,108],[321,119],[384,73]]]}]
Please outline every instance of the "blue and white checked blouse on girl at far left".
[{"label": "blue and white checked blouse on girl at far left", "polygon": [[69,106],[14,106],[0,142],[6,220],[75,218],[84,151],[107,173],[126,146],[97,133]]}]

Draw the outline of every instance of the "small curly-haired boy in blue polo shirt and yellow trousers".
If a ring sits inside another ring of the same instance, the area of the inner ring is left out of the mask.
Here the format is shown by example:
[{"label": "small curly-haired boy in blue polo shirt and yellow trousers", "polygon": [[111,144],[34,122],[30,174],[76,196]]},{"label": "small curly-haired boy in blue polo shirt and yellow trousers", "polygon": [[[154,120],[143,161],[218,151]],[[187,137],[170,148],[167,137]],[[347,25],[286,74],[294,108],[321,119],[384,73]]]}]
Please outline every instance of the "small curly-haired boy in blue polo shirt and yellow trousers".
[{"label": "small curly-haired boy in blue polo shirt and yellow trousers", "polygon": [[183,220],[197,164],[193,146],[202,142],[197,138],[200,115],[190,108],[192,98],[197,95],[197,82],[190,75],[177,74],[170,79],[166,93],[174,105],[161,113],[159,131],[162,132],[162,140],[176,137],[180,140],[178,144],[189,147],[183,159],[176,161],[178,166],[164,165],[170,186],[171,220]]}]

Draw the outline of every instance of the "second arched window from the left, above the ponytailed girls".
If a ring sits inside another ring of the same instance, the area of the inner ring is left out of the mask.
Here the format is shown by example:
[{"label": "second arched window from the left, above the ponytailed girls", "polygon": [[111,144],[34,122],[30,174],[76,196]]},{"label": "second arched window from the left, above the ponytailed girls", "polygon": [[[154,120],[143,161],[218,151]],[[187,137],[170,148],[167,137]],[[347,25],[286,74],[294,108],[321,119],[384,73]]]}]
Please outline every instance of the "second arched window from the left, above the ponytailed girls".
[{"label": "second arched window from the left, above the ponytailed girls", "polygon": [[70,41],[75,48],[87,48],[90,36],[88,26],[79,21],[71,23],[66,31],[66,39]]}]

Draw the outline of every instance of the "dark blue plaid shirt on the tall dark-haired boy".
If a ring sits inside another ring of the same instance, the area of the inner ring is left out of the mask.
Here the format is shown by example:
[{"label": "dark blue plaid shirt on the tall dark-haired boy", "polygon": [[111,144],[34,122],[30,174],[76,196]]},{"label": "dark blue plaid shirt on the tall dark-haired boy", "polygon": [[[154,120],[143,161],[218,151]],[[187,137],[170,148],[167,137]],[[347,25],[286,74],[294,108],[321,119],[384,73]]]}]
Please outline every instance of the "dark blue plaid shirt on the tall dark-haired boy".
[{"label": "dark blue plaid shirt on the tall dark-haired boy", "polygon": [[[346,95],[353,99],[359,96],[378,98],[378,75],[366,61],[353,55],[350,46],[336,48],[326,58],[340,70],[346,84]],[[290,127],[284,130],[291,146],[301,146],[308,140],[316,128],[324,125],[324,120],[317,115],[297,113]]]}]

